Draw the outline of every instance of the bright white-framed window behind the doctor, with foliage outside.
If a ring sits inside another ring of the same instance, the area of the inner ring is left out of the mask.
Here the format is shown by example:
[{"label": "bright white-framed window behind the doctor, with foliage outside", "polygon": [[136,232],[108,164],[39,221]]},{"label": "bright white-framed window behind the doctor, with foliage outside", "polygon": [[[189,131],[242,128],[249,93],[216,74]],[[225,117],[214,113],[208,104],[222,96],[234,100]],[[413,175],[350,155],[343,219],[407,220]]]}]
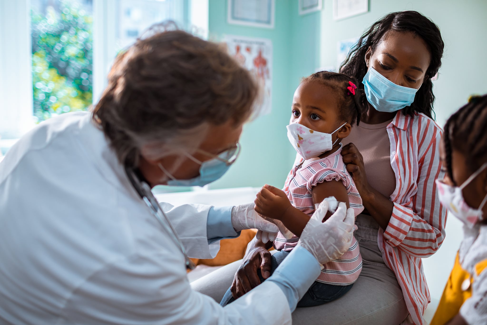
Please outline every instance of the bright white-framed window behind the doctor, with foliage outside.
[{"label": "bright white-framed window behind the doctor, with foliage outside", "polygon": [[96,103],[116,54],[166,19],[206,37],[208,0],[0,1],[0,156],[37,123]]}]

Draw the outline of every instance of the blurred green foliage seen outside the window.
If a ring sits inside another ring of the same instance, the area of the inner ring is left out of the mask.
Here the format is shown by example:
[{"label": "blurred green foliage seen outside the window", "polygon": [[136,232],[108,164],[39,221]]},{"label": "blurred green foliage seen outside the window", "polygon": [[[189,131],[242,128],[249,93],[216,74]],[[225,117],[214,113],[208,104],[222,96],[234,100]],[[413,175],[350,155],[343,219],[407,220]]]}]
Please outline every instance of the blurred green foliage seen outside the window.
[{"label": "blurred green foliage seen outside the window", "polygon": [[73,0],[32,10],[34,116],[86,110],[93,100],[93,17]]}]

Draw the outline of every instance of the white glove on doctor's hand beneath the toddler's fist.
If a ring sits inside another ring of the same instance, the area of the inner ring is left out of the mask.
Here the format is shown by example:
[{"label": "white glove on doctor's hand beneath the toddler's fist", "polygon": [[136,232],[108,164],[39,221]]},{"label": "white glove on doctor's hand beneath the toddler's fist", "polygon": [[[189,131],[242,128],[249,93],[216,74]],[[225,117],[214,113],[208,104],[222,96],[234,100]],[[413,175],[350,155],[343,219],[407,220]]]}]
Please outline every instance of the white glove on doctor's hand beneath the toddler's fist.
[{"label": "white glove on doctor's hand beneath the toddler's fist", "polygon": [[257,229],[277,233],[279,229],[275,224],[263,219],[255,210],[255,204],[247,203],[232,209],[232,226],[235,231],[244,229]]}]

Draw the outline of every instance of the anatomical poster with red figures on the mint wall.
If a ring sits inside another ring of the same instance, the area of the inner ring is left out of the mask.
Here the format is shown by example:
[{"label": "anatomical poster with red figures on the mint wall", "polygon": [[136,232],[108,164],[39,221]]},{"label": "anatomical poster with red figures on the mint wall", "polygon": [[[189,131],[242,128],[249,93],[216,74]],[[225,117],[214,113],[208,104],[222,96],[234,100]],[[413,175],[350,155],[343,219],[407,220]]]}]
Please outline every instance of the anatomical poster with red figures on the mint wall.
[{"label": "anatomical poster with red figures on the mint wall", "polygon": [[228,53],[256,76],[262,87],[259,115],[269,114],[272,108],[272,41],[267,38],[226,35],[224,42]]}]

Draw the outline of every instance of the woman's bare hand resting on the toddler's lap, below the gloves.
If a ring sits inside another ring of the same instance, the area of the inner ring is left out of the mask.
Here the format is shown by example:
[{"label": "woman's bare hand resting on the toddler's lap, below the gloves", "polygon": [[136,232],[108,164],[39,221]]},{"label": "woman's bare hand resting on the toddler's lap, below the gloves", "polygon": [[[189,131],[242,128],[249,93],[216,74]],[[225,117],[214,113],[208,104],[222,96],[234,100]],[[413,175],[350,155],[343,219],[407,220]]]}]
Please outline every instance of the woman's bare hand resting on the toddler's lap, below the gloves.
[{"label": "woman's bare hand resting on the toddler's lap, below the gloves", "polygon": [[235,273],[232,286],[230,287],[232,296],[235,299],[261,284],[261,279],[259,279],[257,273],[258,269],[261,269],[264,279],[271,275],[271,253],[257,243],[258,241],[255,239],[250,242],[242,264]]}]

